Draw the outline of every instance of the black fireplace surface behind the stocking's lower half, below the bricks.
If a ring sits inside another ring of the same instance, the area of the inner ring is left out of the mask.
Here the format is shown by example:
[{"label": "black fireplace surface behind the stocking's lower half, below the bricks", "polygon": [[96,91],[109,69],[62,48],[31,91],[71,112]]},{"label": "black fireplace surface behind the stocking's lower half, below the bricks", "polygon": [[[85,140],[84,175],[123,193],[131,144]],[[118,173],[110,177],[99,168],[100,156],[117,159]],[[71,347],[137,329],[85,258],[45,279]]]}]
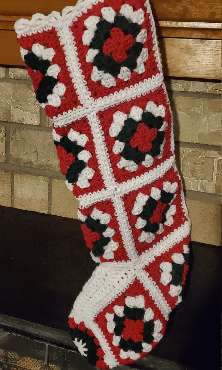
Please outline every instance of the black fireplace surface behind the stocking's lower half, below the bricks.
[{"label": "black fireplace surface behind the stocking's lower half, below the bricks", "polygon": [[[0,313],[66,330],[73,301],[95,268],[79,221],[0,207],[0,240]],[[194,242],[191,251],[184,300],[152,355],[219,370],[221,252]]]}]

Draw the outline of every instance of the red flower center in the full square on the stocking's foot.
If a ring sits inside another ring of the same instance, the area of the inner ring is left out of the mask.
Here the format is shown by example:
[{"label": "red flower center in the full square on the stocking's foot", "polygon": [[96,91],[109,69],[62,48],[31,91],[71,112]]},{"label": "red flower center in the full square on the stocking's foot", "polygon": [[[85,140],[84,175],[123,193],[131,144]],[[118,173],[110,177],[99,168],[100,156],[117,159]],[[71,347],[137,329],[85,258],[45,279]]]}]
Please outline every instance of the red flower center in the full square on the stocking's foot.
[{"label": "red flower center in the full square on the stocking's foot", "polygon": [[122,332],[122,337],[125,340],[132,339],[134,342],[142,342],[143,331],[144,331],[144,322],[143,320],[130,320],[125,319],[124,321],[125,328]]}]

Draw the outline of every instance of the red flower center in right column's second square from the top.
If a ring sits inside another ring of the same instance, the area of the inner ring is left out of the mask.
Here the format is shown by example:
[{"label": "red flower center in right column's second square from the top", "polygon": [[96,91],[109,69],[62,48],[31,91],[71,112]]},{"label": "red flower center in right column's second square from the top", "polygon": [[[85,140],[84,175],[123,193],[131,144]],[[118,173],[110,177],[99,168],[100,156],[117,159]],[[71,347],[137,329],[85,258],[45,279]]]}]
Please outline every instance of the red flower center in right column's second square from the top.
[{"label": "red flower center in right column's second square from the top", "polygon": [[131,147],[136,148],[145,153],[152,149],[152,141],[157,137],[157,128],[149,128],[144,123],[139,123],[137,131],[130,140]]}]

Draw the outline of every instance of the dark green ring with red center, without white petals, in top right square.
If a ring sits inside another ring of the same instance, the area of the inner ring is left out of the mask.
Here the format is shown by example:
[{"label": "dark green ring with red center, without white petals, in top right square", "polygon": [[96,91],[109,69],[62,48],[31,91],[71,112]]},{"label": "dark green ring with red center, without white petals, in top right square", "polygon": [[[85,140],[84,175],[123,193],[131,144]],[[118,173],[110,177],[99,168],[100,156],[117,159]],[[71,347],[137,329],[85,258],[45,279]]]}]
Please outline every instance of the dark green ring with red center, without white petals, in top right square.
[{"label": "dark green ring with red center, without white petals, in top right square", "polygon": [[124,16],[115,16],[114,23],[100,20],[90,43],[90,48],[100,50],[94,58],[98,70],[113,77],[120,74],[121,67],[134,70],[142,51],[142,43],[135,41],[140,30],[137,23],[129,23]]}]

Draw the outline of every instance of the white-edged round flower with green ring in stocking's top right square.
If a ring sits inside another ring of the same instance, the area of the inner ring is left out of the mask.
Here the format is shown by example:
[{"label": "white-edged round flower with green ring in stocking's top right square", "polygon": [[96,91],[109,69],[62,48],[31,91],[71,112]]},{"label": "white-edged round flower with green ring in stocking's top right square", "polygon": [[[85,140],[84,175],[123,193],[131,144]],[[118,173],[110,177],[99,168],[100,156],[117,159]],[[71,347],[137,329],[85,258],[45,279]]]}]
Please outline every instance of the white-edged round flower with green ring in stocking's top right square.
[{"label": "white-edged round flower with green ring in stocking's top right square", "polygon": [[145,72],[147,30],[141,28],[145,14],[129,4],[123,4],[119,13],[111,7],[102,8],[101,13],[102,18],[90,16],[84,21],[82,41],[89,46],[85,60],[93,64],[91,80],[112,87],[117,77],[128,81],[132,71]]}]

